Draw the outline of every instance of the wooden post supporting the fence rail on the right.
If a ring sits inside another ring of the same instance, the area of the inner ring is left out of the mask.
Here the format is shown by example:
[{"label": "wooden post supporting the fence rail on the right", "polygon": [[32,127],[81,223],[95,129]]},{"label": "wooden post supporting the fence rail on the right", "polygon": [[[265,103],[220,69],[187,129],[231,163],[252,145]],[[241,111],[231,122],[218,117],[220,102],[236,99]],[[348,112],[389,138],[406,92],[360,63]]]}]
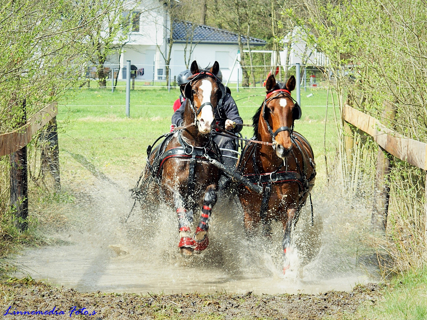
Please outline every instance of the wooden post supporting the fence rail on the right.
[{"label": "wooden post supporting the fence rail on the right", "polygon": [[[393,128],[392,121],[395,118],[396,109],[393,103],[384,101],[383,121]],[[387,123],[388,122],[388,123]],[[385,231],[387,227],[387,215],[389,212],[390,179],[392,169],[390,154],[378,145],[377,173],[375,175],[374,206],[372,208],[371,225],[376,231]]]}]

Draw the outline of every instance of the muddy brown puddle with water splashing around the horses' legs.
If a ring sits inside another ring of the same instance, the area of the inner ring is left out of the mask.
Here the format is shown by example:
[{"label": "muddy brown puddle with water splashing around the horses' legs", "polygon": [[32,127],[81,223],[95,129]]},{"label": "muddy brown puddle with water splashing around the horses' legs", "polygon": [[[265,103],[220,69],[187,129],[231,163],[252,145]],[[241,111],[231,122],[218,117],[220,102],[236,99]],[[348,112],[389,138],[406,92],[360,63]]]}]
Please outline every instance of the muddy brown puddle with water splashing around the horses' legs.
[{"label": "muddy brown puddle with water splashing around the horses' legs", "polygon": [[[26,250],[12,263],[27,273],[82,292],[199,292],[317,294],[349,291],[373,282],[373,271],[358,263],[358,239],[369,225],[369,210],[345,205],[327,193],[313,193],[295,230],[293,269],[283,275],[281,225],[273,224],[273,244],[248,242],[236,198],[220,197],[213,209],[210,244],[184,258],[178,253],[177,218],[166,207],[141,212],[125,190],[133,181],[103,181],[84,187],[86,201],[76,205],[75,227],[53,236],[56,245]],[[331,192],[331,195],[333,193]],[[196,217],[196,215],[195,215]]]}]

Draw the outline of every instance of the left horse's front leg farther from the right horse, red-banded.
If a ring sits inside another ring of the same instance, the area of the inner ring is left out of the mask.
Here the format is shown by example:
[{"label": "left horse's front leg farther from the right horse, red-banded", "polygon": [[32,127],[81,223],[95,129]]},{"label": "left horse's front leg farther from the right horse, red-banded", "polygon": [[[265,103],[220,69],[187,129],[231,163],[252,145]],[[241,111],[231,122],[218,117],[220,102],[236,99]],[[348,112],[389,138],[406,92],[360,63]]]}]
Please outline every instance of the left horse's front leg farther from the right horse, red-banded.
[{"label": "left horse's front leg farther from the right horse, red-banded", "polygon": [[178,230],[179,240],[178,248],[181,254],[184,256],[190,256],[193,254],[193,250],[196,247],[193,238],[190,236],[190,223],[193,222],[193,211],[187,211],[184,206],[184,199],[176,192],[174,194],[175,209],[178,215]]}]

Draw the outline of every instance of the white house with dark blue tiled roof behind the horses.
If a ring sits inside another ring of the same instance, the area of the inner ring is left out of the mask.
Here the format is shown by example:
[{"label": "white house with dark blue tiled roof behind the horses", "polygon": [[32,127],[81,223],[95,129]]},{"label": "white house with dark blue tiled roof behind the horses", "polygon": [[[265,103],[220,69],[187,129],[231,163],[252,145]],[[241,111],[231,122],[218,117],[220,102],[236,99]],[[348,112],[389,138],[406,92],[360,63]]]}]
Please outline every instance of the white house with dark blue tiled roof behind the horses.
[{"label": "white house with dark blue tiled roof behind the horses", "polygon": [[[147,82],[165,79],[166,70],[163,55],[166,57],[169,49],[170,19],[167,17],[167,12],[163,6],[159,6],[159,4],[160,2],[152,0],[150,5],[145,3],[140,11],[135,10],[132,12],[134,17],[133,31],[129,35],[129,42],[124,47],[124,53],[120,55],[120,61],[118,55],[108,59],[111,67],[117,68],[118,64],[120,64],[119,79],[126,78],[126,72],[123,67],[126,68],[127,60],[130,60],[131,64],[135,65],[139,70],[137,79],[144,79]],[[184,50],[187,42],[187,63],[188,60],[190,60],[190,64],[193,60],[196,60],[199,66],[207,67],[218,61],[224,81],[228,79],[239,49],[237,34],[210,26],[193,26],[189,22],[177,21],[173,23],[172,38],[171,81],[173,81],[174,76],[178,76],[182,70],[186,69]],[[247,40],[245,37],[242,37],[242,42],[246,49]],[[263,46],[266,41],[250,38],[249,44],[251,47]],[[189,54],[191,54],[190,59],[188,59]],[[237,81],[238,72],[240,72],[239,79],[242,79],[239,67],[240,65],[237,61],[230,81]]]}]

